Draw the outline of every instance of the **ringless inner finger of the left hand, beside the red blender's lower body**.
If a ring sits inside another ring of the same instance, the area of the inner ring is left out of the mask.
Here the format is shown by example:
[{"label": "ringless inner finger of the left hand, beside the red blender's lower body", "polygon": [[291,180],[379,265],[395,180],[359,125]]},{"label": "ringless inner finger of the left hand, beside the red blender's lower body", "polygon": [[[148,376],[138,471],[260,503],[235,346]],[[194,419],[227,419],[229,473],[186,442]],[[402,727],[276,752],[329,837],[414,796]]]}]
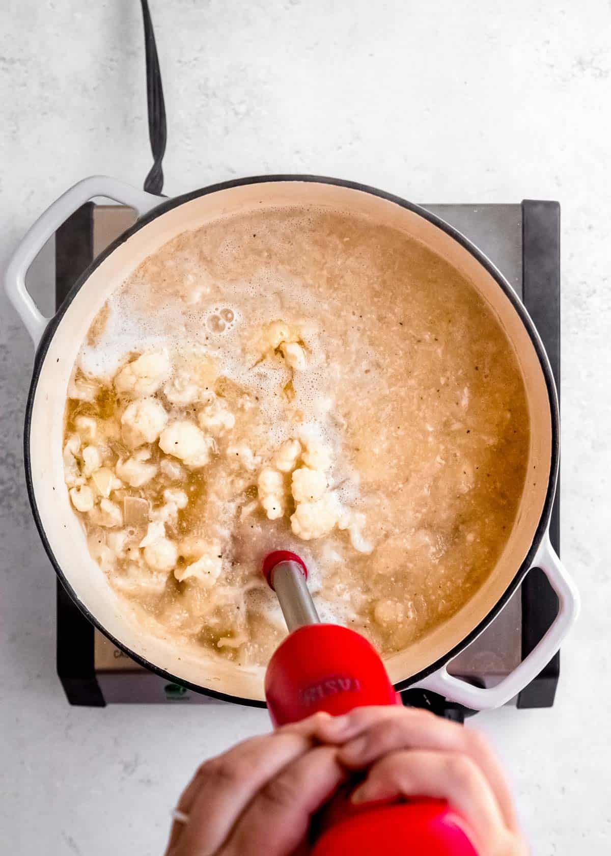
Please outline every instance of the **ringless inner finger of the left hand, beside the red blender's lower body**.
[{"label": "ringless inner finger of the left hand, beside the red blender's lower body", "polygon": [[333,746],[317,746],[271,779],[240,817],[223,856],[284,856],[304,844],[311,815],[347,778]]}]

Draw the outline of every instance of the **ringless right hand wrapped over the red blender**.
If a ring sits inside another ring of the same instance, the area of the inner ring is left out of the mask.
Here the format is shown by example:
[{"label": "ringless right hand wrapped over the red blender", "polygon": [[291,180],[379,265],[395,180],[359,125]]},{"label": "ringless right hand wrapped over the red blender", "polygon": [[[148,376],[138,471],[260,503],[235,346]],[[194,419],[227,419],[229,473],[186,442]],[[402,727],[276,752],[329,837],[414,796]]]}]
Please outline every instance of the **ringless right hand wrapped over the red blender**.
[{"label": "ringless right hand wrapped over the red blender", "polygon": [[367,770],[354,803],[448,800],[472,829],[480,856],[528,853],[501,765],[477,731],[415,708],[362,707],[315,723],[314,734],[338,746],[347,770]]}]

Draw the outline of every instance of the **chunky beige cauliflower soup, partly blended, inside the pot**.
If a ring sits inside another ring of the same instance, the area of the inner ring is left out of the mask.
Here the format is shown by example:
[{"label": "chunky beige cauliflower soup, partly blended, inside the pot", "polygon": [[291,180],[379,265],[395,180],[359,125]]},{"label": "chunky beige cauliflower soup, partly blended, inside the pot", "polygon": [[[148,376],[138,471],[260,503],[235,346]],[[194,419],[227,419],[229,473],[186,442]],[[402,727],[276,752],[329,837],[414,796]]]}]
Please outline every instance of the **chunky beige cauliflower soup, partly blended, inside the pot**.
[{"label": "chunky beige cauliflower soup, partly blended, inside the pot", "polygon": [[367,217],[225,217],[116,289],[68,387],[64,473],[109,585],[178,645],[264,665],[270,550],[383,655],[495,568],[529,448],[512,346],[440,256]]}]

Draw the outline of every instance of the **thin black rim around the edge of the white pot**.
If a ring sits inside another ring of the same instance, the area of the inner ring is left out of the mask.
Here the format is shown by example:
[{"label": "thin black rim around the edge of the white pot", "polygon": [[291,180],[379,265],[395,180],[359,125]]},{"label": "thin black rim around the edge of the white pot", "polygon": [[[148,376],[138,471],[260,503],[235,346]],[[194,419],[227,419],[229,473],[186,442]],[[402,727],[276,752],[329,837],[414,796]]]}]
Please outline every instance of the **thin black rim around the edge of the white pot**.
[{"label": "thin black rim around the edge of the white pot", "polygon": [[477,639],[479,634],[482,633],[483,630],[485,630],[485,628],[489,626],[490,622],[494,621],[496,615],[499,614],[501,609],[507,604],[507,601],[513,596],[513,593],[518,589],[520,583],[522,582],[522,580],[524,580],[525,575],[528,573],[532,566],[532,562],[537,554],[538,546],[539,544],[541,544],[543,535],[545,534],[549,525],[549,516],[551,514],[552,503],[554,502],[560,460],[560,412],[558,407],[558,397],[555,388],[555,381],[552,375],[551,368],[549,366],[547,354],[545,353],[545,349],[543,348],[543,342],[541,342],[541,339],[537,334],[537,330],[535,329],[535,326],[532,323],[528,312],[526,312],[525,310],[525,306],[519,300],[517,294],[515,294],[509,282],[507,282],[505,277],[502,276],[501,271],[495,268],[495,265],[490,262],[490,260],[478,249],[478,247],[472,244],[472,242],[469,241],[464,235],[461,235],[461,233],[457,229],[454,229],[454,226],[451,226],[449,223],[446,223],[444,220],[442,220],[441,217],[437,217],[435,214],[432,214],[430,211],[427,211],[421,205],[415,205],[412,202],[407,202],[406,199],[401,199],[399,196],[394,196],[394,194],[392,193],[386,193],[383,190],[379,190],[377,187],[370,187],[365,184],[360,184],[356,181],[346,181],[344,179],[329,178],[323,175],[255,175],[249,178],[234,179],[233,181],[222,181],[218,184],[210,185],[209,187],[194,190],[190,193],[184,193],[181,196],[176,196],[172,199],[167,199],[161,202],[160,205],[157,205],[157,207],[152,209],[152,211],[149,211],[147,214],[145,214],[144,217],[141,217],[137,221],[137,223],[135,223],[131,227],[131,229],[128,229],[127,231],[123,232],[122,235],[119,235],[119,237],[116,238],[116,240],[109,245],[109,247],[106,247],[104,252],[100,253],[100,255],[92,261],[92,264],[89,265],[87,269],[81,274],[78,280],[74,282],[74,286],[70,289],[66,299],[62,303],[62,306],[60,306],[54,317],[50,319],[50,322],[44,330],[43,336],[41,337],[39,347],[34,357],[32,382],[30,384],[30,389],[27,396],[25,430],[23,437],[27,495],[30,500],[34,521],[39,531],[40,539],[44,545],[44,550],[46,550],[47,556],[49,556],[50,562],[53,565],[53,568],[55,568],[59,580],[62,582],[62,586],[64,586],[66,591],[68,591],[68,594],[70,595],[74,603],[76,603],[83,615],[86,616],[88,621],[91,621],[94,627],[97,627],[101,633],[104,633],[104,636],[106,636],[107,639],[110,639],[113,645],[116,645],[117,648],[119,648],[121,651],[124,651],[128,655],[128,657],[131,657],[136,663],[139,663],[141,666],[144,666],[145,669],[149,669],[150,671],[155,672],[157,675],[161,675],[168,681],[180,684],[183,687],[188,687],[195,693],[203,693],[205,695],[211,696],[212,698],[221,699],[222,701],[234,702],[236,704],[245,704],[251,707],[265,707],[266,705],[264,701],[260,701],[255,698],[242,698],[240,696],[229,695],[228,693],[219,693],[217,690],[214,690],[211,687],[201,687],[198,684],[193,684],[189,681],[185,681],[182,678],[178,678],[176,675],[172,675],[165,669],[159,668],[157,665],[155,665],[155,663],[151,663],[145,657],[139,655],[136,651],[132,651],[130,648],[128,648],[127,645],[123,645],[122,642],[119,641],[119,639],[116,639],[101,625],[96,616],[92,615],[92,612],[87,609],[84,603],[80,601],[80,598],[77,596],[76,592],[74,591],[74,588],[70,585],[68,579],[63,573],[59,562],[57,562],[56,557],[53,554],[53,550],[51,550],[49,540],[46,537],[46,532],[44,531],[43,522],[40,518],[39,508],[33,490],[32,461],[30,457],[30,434],[32,429],[34,396],[38,387],[40,372],[42,370],[44,358],[49,350],[50,342],[53,339],[53,336],[55,336],[56,330],[58,329],[59,324],[61,323],[62,318],[68,309],[68,306],[70,306],[70,304],[74,300],[74,297],[80,291],[80,288],[82,288],[86,280],[89,278],[89,276],[91,276],[92,272],[96,270],[98,265],[100,265],[104,261],[104,259],[107,259],[108,256],[110,256],[110,253],[113,253],[117,247],[120,247],[125,241],[128,241],[128,239],[132,235],[135,235],[135,233],[138,232],[140,229],[144,229],[144,227],[148,223],[151,223],[152,220],[156,219],[162,214],[165,214],[167,211],[171,211],[173,208],[182,205],[183,203],[190,202],[192,199],[198,199],[200,196],[206,196],[210,193],[217,193],[218,191],[227,190],[230,187],[240,187],[242,185],[248,184],[266,184],[269,182],[277,181],[308,181],[319,184],[332,184],[339,187],[348,187],[353,190],[359,190],[362,193],[371,193],[371,195],[373,196],[377,196],[381,199],[386,199],[389,202],[394,202],[396,205],[400,205],[401,208],[406,208],[408,211],[413,211],[415,214],[418,214],[420,217],[424,217],[425,220],[428,220],[438,229],[442,229],[443,232],[454,238],[454,241],[457,241],[461,247],[464,247],[467,252],[471,253],[472,256],[478,260],[479,264],[482,265],[483,268],[488,271],[489,275],[494,278],[497,285],[501,288],[507,299],[513,305],[515,311],[518,313],[520,320],[524,324],[525,329],[527,330],[531,338],[533,348],[535,348],[537,359],[539,360],[539,364],[543,372],[543,377],[545,378],[545,385],[548,390],[552,435],[549,483],[545,496],[545,501],[543,502],[541,516],[537,524],[537,530],[535,532],[533,542],[531,544],[531,549],[525,556],[524,562],[522,562],[522,564],[514,574],[513,580],[509,584],[509,586],[507,586],[506,591],[495,603],[492,609],[489,610],[488,615],[486,615],[482,619],[482,621],[478,623],[478,626],[475,627],[472,632],[469,633],[464,639],[461,639],[460,642],[454,645],[454,648],[452,648],[451,651],[448,651],[448,653],[445,654],[443,657],[437,659],[435,663],[431,663],[425,669],[421,669],[416,675],[411,675],[408,678],[398,681],[394,685],[397,690],[405,690],[408,687],[411,687],[413,684],[417,683],[418,681],[422,681],[428,675],[432,675],[433,672],[436,672],[436,670],[440,669],[445,663],[449,663],[451,660],[453,660],[454,657],[456,657],[460,653],[460,651],[463,651],[468,645],[471,645],[472,641],[474,639]]}]

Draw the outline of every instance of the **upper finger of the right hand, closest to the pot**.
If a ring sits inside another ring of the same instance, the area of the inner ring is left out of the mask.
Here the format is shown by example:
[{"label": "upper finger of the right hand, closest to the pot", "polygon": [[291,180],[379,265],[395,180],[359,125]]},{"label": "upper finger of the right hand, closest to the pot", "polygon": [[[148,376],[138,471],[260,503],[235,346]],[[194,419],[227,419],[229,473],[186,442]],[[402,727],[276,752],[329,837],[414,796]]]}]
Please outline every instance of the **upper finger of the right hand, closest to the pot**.
[{"label": "upper finger of the right hand, closest to the pot", "polygon": [[[335,720],[336,722],[336,720]],[[332,732],[333,720],[318,722],[317,734]],[[341,732],[341,728],[339,729]],[[428,710],[401,707],[364,707],[348,716],[343,730],[348,736],[339,752],[342,764],[359,770],[388,752],[399,749],[430,749],[464,752],[483,771],[510,829],[518,821],[513,797],[495,753],[477,731],[449,722]]]}]

